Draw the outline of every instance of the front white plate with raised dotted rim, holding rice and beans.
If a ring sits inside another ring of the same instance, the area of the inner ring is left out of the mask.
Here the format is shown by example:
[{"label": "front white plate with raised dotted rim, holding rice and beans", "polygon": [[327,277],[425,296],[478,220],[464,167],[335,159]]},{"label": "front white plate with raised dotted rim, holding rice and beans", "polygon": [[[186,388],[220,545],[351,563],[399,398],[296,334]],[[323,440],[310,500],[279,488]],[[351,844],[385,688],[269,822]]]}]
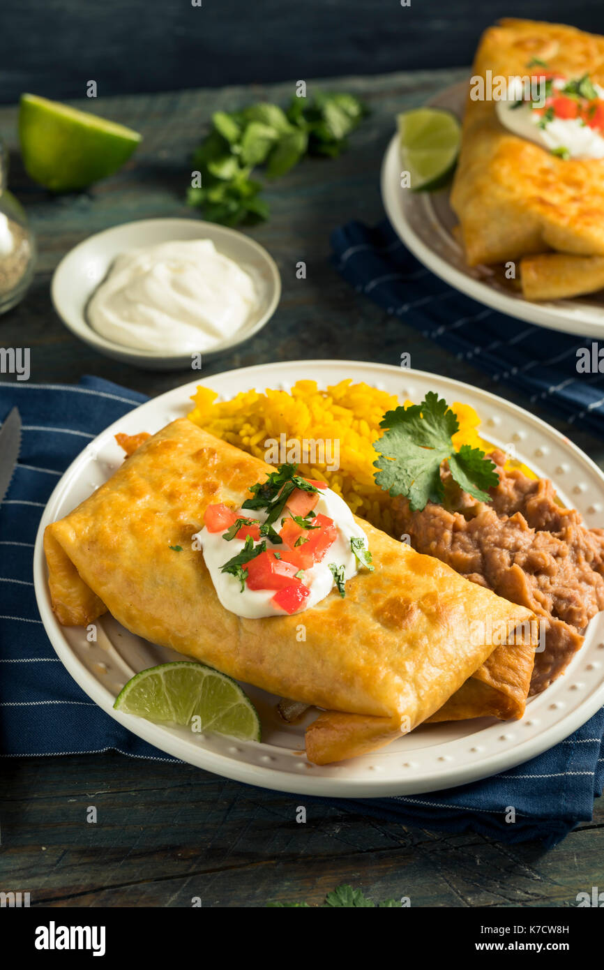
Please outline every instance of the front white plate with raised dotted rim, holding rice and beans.
[{"label": "front white plate with raised dotted rim, holding rice and beans", "polygon": [[[588,527],[604,521],[604,475],[568,438],[515,404],[461,381],[424,371],[400,370],[355,361],[289,361],[215,374],[175,388],[142,404],[91,441],[67,469],[52,493],[40,523],[34,552],[34,581],[43,623],[59,657],[85,693],[124,727],[175,758],[228,778],[282,792],[346,797],[378,797],[463,785],[533,758],[580,727],[604,703],[604,612],[588,627],[583,648],[564,676],[532,697],[522,721],[484,718],[418,727],[380,752],[337,764],[310,764],[303,755],[303,728],[284,726],[274,712],[275,697],[248,685],[256,703],[263,741],[242,743],[219,735],[193,735],[114,711],[113,701],[135,672],[155,663],[182,659],[124,630],[111,616],[97,621],[98,639],[89,643],[83,628],[61,627],[50,608],[42,537],[49,522],[67,515],[111,476],[123,460],[113,436],[156,432],[190,409],[198,383],[222,398],[238,391],[289,387],[300,379],[319,387],[344,378],[366,381],[421,401],[437,391],[448,402],[476,408],[483,432],[493,444],[513,444],[517,456],[539,475],[552,478],[566,505],[584,515]],[[312,720],[309,714],[307,721]]]}]

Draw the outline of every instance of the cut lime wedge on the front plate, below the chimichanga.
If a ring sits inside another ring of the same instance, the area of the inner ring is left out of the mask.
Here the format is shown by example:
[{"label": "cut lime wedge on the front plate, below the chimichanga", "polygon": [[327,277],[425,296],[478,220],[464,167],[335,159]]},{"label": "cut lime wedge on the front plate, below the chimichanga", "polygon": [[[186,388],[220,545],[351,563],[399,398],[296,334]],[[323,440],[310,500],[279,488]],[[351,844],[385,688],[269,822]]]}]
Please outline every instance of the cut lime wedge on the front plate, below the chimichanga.
[{"label": "cut lime wedge on the front plate, below the chimichanga", "polygon": [[122,688],[113,709],[147,721],[260,741],[260,720],[249,697],[231,677],[204,663],[175,661],[142,670]]}]

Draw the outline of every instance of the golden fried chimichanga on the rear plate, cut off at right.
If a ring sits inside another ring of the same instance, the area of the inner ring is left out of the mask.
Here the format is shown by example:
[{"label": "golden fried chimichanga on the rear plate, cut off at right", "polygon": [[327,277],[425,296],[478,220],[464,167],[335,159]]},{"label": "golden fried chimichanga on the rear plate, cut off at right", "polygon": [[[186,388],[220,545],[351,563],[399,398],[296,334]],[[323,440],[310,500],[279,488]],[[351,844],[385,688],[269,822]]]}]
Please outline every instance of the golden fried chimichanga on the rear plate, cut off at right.
[{"label": "golden fried chimichanga on the rear plate, cut off at right", "polygon": [[[472,76],[506,79],[528,76],[531,59],[569,78],[588,74],[604,83],[604,37],[574,27],[534,20],[504,19],[485,31]],[[519,138],[497,119],[495,101],[468,97],[462,124],[461,154],[451,204],[461,224],[470,266],[505,263],[526,256],[558,253],[604,256],[604,159],[561,159]],[[529,299],[556,299],[591,292],[602,285],[599,267],[578,269],[566,263],[533,262],[521,274]],[[578,287],[580,287],[578,289]],[[535,296],[534,294],[538,294]]]}]

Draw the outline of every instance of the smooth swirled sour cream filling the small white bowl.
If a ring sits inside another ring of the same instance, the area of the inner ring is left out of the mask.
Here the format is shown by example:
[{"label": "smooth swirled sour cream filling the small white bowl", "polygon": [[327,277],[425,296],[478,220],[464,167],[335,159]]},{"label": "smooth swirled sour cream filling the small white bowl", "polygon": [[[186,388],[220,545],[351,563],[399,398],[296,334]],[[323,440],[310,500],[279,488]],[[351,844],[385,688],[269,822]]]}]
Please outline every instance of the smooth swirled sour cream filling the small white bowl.
[{"label": "smooth swirled sour cream filling the small white bowl", "polygon": [[211,240],[176,240],[118,256],[88,304],[88,322],[126,347],[210,350],[259,306],[252,277]]}]

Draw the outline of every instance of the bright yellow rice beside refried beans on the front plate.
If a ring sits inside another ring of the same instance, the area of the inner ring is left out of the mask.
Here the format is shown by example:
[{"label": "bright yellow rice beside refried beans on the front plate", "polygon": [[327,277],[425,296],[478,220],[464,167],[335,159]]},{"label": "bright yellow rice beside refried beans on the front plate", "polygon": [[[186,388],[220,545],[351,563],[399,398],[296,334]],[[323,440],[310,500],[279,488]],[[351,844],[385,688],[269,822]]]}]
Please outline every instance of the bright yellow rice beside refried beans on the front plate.
[{"label": "bright yellow rice beside refried beans on the front plate", "polygon": [[[217,397],[208,387],[198,387],[191,399],[195,407],[189,418],[211,435],[258,458],[265,459],[270,439],[279,440],[282,433],[288,445],[294,441],[302,445],[304,439],[337,440],[337,470],[329,470],[327,463],[301,464],[301,473],[327,481],[353,512],[384,532],[392,532],[392,499],[375,484],[373,462],[377,453],[371,444],[383,434],[379,423],[385,412],[400,404],[395,395],[365,383],[353,384],[349,379],[327,391],[320,391],[314,380],[299,380],[291,392],[267,388],[265,394],[241,391],[231,401],[219,402]],[[460,431],[453,438],[456,448],[461,444],[484,448],[486,442],[478,436],[480,418],[474,408],[459,402],[451,406],[460,422]]]}]

